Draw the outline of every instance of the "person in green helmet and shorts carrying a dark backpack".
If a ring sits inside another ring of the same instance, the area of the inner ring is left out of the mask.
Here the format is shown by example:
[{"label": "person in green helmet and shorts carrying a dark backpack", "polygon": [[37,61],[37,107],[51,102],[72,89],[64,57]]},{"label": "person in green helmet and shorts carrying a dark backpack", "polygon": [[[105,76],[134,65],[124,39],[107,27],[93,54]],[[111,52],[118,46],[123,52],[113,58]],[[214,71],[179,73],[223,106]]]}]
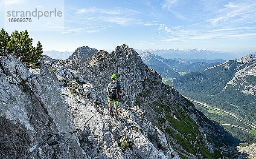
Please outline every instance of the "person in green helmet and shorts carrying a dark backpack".
[{"label": "person in green helmet and shorts carrying a dark backpack", "polygon": [[111,111],[111,103],[114,103],[115,105],[115,115],[114,117],[116,118],[116,114],[117,114],[117,105],[118,105],[118,100],[119,100],[119,92],[121,91],[122,93],[122,98],[124,97],[123,94],[123,90],[122,90],[122,86],[119,82],[116,81],[116,74],[113,74],[111,76],[112,82],[108,83],[108,88],[107,88],[107,92],[108,92],[108,113],[111,115],[112,111]]}]

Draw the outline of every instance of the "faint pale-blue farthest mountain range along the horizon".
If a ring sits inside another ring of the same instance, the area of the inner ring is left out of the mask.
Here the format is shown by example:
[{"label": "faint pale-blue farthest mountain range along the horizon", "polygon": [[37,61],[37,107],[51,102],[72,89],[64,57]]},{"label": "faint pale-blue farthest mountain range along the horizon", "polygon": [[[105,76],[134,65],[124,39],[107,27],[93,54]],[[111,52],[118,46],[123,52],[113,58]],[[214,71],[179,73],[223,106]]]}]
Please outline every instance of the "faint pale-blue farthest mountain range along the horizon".
[{"label": "faint pale-blue farthest mountain range along the horizon", "polygon": [[239,56],[222,51],[209,51],[209,50],[175,50],[175,49],[162,49],[162,50],[136,50],[139,54],[149,51],[153,54],[157,54],[166,59],[206,59],[206,60],[215,60],[215,59],[224,59],[224,60],[233,60],[240,58]]}]

